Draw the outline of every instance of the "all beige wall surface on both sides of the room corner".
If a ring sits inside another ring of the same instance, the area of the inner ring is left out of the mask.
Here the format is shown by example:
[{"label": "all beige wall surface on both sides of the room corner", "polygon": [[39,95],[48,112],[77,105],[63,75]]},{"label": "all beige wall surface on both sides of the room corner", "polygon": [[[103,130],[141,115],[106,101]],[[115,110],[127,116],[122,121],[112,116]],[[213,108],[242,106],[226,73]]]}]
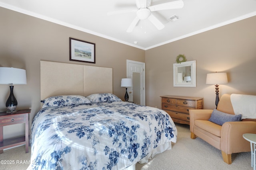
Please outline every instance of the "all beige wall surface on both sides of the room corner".
[{"label": "all beige wall surface on both sides of the room corner", "polygon": [[[238,21],[149,50],[141,50],[82,31],[0,8],[0,66],[24,68],[27,84],[15,85],[18,109],[31,107],[30,123],[40,108],[40,60],[113,68],[113,93],[123,98],[121,78],[126,59],[146,63],[146,105],[160,108],[161,95],[202,96],[204,108],[214,108],[214,85],[205,84],[206,74],[227,72],[224,93],[256,95],[256,17]],[[69,61],[69,37],[96,44],[96,64]],[[176,56],[196,60],[196,88],[173,87],[172,64]],[[0,84],[0,111],[10,93]],[[23,125],[4,127],[4,138],[24,134]]]}]

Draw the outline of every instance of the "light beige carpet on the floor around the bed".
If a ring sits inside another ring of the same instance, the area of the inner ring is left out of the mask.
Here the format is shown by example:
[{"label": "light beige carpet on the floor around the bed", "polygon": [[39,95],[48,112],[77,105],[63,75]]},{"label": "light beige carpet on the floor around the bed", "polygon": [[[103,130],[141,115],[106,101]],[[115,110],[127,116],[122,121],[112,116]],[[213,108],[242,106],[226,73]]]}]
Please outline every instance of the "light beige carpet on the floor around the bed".
[{"label": "light beige carpet on the floor around the bed", "polygon": [[[136,170],[252,170],[250,152],[232,154],[232,164],[222,160],[221,151],[200,138],[190,139],[189,125],[176,124],[177,143],[171,150],[154,156],[148,163],[136,164]],[[235,141],[234,141],[235,142]],[[248,144],[250,145],[250,144]],[[30,162],[25,146],[4,150],[0,160],[9,164],[0,164],[0,170],[26,170]],[[14,164],[10,164],[10,161]]]}]

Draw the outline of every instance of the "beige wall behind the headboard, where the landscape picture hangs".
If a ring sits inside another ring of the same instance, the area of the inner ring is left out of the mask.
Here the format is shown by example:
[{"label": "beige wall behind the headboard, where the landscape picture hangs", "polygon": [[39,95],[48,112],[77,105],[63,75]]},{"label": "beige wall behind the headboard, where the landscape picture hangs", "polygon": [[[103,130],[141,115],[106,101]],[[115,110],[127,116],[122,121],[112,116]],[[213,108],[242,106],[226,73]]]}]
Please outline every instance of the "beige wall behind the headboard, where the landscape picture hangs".
[{"label": "beige wall behind the headboard, where the landscape picture hangs", "polygon": [[[0,66],[26,69],[27,84],[15,85],[18,109],[32,108],[30,123],[40,108],[40,60],[113,68],[113,93],[124,98],[120,87],[126,78],[126,59],[145,62],[145,51],[102,37],[0,8]],[[96,64],[69,61],[69,37],[96,44]],[[60,84],[61,85],[61,84]],[[74,87],[75,88],[75,87]],[[10,94],[0,84],[0,111]],[[24,125],[4,127],[4,138],[24,134]]]}]

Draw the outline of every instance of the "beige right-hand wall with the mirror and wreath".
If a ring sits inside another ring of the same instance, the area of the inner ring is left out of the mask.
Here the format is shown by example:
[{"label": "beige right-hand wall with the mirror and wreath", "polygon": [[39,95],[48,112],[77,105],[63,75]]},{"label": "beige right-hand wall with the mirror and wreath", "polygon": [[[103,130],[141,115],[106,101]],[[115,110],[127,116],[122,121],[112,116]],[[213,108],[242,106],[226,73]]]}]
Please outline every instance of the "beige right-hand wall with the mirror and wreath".
[{"label": "beige right-hand wall with the mirror and wreath", "polygon": [[[161,95],[198,96],[215,108],[215,86],[206,74],[227,72],[224,93],[256,95],[256,16],[146,51],[146,105],[161,108]],[[196,87],[173,87],[173,63],[196,60]]]}]

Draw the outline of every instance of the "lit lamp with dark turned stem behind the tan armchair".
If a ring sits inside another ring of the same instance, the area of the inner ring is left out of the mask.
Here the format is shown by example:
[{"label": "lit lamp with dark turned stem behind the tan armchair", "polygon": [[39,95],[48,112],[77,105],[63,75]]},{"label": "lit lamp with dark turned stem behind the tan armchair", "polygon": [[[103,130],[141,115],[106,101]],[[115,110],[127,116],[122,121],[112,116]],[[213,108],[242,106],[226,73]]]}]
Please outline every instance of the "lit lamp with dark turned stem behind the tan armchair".
[{"label": "lit lamp with dark turned stem behind the tan armchair", "polygon": [[216,93],[216,100],[215,105],[216,108],[219,103],[219,84],[226,84],[228,83],[228,77],[226,72],[215,72],[209,73],[206,76],[206,84],[215,84],[215,93]]}]

